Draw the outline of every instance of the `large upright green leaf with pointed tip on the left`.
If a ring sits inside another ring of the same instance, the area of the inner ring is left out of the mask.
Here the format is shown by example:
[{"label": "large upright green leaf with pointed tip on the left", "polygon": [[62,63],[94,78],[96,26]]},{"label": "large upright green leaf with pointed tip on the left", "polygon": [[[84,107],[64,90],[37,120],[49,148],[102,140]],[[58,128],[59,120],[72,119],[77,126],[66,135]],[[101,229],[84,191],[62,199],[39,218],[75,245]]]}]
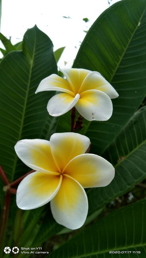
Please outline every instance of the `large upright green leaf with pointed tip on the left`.
[{"label": "large upright green leaf with pointed tip on the left", "polygon": [[10,181],[30,170],[18,160],[16,142],[44,138],[49,127],[47,102],[53,92],[35,91],[52,73],[57,74],[53,44],[37,26],[26,31],[23,51],[7,54],[0,64],[0,163]]}]

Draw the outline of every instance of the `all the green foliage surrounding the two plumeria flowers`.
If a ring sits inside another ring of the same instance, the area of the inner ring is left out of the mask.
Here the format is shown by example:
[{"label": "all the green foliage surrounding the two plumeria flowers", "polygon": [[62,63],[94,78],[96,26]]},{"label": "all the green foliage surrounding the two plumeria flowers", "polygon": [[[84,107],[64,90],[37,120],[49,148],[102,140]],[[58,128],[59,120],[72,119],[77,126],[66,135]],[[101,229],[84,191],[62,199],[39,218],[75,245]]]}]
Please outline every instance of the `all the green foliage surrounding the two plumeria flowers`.
[{"label": "all the green foliage surrounding the two plumeria flowers", "polygon": [[[59,118],[48,115],[47,102],[53,92],[34,94],[42,79],[58,73],[56,62],[63,48],[58,57],[54,56],[50,38],[37,26],[27,30],[23,42],[15,46],[2,34],[0,39],[6,47],[0,63],[0,164],[13,182],[29,171],[18,160],[15,143],[20,139],[49,139],[54,132],[68,132],[71,121],[69,112]],[[141,200],[145,196],[140,189],[145,187],[145,181],[140,182],[146,177],[145,39],[146,1],[120,1],[105,10],[91,26],[73,64],[74,68],[99,71],[119,93],[119,98],[112,100],[111,119],[106,122],[84,119],[80,131],[90,138],[91,153],[102,155],[116,170],[107,187],[87,189],[88,224],[63,234],[64,228],[53,219],[49,204],[20,211],[13,196],[3,247],[43,246],[43,251],[53,250],[48,257],[107,258],[112,256],[109,251],[132,252],[118,253],[118,257],[144,257],[146,201]],[[2,187],[0,178],[0,211],[4,200]],[[123,201],[129,191],[138,202],[129,205],[129,199]],[[59,232],[62,234],[57,235]],[[136,251],[141,256],[133,253]],[[20,252],[17,255],[22,256]],[[3,256],[2,251],[1,257],[11,256]]]}]

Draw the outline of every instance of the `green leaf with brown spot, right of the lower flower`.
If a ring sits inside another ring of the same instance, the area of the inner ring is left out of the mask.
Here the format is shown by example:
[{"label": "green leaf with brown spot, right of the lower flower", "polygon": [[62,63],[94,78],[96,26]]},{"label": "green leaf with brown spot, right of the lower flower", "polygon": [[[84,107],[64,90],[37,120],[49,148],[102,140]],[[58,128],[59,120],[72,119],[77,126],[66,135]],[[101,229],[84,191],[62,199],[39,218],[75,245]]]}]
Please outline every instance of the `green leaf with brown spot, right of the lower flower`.
[{"label": "green leaf with brown spot, right of the lower flower", "polygon": [[116,164],[115,177],[106,187],[87,191],[89,214],[102,208],[117,196],[128,192],[146,177],[146,107],[129,120],[105,153]]}]

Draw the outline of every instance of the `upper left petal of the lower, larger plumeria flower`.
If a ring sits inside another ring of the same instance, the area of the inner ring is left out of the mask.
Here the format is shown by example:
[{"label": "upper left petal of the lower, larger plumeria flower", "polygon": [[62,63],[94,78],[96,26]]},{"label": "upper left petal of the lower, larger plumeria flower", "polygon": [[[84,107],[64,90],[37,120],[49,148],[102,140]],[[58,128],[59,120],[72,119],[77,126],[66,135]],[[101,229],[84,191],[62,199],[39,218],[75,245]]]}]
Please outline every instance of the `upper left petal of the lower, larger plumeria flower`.
[{"label": "upper left petal of the lower, larger plumeria flower", "polygon": [[41,139],[24,139],[15,145],[15,151],[28,167],[39,172],[59,175],[51,154],[50,142]]}]

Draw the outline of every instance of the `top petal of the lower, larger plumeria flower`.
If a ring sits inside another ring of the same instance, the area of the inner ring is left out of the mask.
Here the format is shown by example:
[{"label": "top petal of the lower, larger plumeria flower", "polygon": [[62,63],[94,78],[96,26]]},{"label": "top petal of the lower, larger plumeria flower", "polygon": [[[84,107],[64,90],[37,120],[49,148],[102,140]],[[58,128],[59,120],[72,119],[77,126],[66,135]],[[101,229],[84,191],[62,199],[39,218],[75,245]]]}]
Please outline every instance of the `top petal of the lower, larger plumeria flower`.
[{"label": "top petal of the lower, larger plumeria flower", "polygon": [[60,171],[75,156],[85,153],[89,145],[90,139],[78,133],[55,133],[50,138],[51,152]]}]

